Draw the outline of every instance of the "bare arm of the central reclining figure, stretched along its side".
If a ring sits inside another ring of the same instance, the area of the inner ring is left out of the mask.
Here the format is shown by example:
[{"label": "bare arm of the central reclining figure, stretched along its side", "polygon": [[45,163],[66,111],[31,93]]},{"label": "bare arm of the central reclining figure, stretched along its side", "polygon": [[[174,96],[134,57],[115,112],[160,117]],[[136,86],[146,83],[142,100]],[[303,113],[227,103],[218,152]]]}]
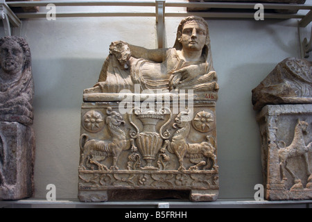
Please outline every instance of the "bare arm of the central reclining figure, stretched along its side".
[{"label": "bare arm of the central reclining figure, stretched along its side", "polygon": [[131,51],[131,56],[135,58],[144,58],[153,62],[163,62],[166,56],[166,49],[146,49],[132,44],[128,44],[128,46]]}]

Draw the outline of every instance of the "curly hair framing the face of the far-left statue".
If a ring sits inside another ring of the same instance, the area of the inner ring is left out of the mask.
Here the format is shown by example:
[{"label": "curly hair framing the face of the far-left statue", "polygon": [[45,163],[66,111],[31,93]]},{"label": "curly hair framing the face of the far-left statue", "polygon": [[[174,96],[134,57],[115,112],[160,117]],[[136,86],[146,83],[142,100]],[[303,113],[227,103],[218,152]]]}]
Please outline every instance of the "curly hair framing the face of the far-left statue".
[{"label": "curly hair framing the face of the far-left statue", "polygon": [[[31,67],[31,49],[28,46],[28,43],[23,37],[18,37],[18,36],[5,36],[0,38],[0,47],[4,42],[8,41],[14,41],[17,42],[21,46],[21,49],[23,49],[24,52],[24,65],[23,65],[23,70],[28,69]],[[0,66],[1,68],[1,66]]]}]

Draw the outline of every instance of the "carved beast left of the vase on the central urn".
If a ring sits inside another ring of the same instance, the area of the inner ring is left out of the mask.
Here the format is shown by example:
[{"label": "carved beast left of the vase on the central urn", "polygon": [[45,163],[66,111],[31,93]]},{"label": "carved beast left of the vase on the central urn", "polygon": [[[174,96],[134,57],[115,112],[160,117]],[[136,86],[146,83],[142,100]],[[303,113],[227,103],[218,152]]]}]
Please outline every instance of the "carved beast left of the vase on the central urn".
[{"label": "carved beast left of the vase on the central urn", "polygon": [[112,111],[111,108],[107,108],[107,114],[108,117],[106,117],[105,120],[112,139],[89,140],[88,135],[81,135],[80,148],[82,149],[83,154],[81,155],[80,167],[82,168],[85,168],[84,164],[87,160],[91,164],[96,164],[98,169],[107,170],[108,168],[100,162],[105,160],[106,157],[112,156],[112,167],[110,167],[110,169],[119,169],[117,167],[119,155],[122,151],[130,148],[130,140],[125,138],[125,133],[119,127],[121,124],[125,123],[121,114]]}]

